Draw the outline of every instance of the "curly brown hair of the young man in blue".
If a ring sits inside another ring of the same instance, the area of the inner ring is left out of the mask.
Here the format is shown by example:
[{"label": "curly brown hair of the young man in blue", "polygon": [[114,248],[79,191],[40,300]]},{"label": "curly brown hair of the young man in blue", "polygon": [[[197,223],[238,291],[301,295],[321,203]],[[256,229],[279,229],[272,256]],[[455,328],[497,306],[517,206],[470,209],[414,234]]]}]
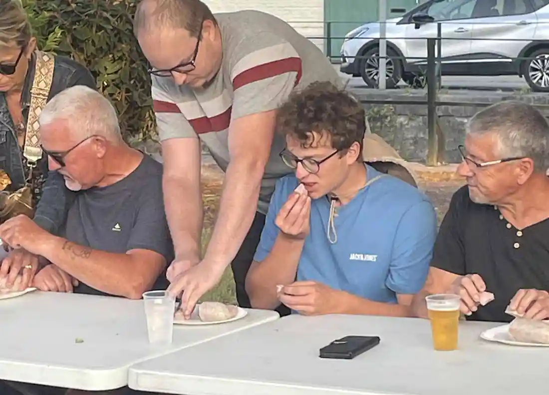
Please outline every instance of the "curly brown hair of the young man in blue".
[{"label": "curly brown hair of the young man in blue", "polygon": [[[290,94],[278,109],[276,129],[298,140],[303,148],[317,143],[315,137],[329,137],[332,147],[342,154],[355,141],[362,152],[366,113],[348,91],[332,82],[313,82]],[[362,155],[358,159],[361,158]]]}]

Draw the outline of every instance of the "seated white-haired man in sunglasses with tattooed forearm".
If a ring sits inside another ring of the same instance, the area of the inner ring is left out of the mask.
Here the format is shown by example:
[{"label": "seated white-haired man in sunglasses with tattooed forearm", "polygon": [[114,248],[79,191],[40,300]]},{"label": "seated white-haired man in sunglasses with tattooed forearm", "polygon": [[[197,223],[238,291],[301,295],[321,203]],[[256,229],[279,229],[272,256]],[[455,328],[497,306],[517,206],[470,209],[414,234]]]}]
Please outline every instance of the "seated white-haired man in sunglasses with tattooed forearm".
[{"label": "seated white-haired man in sunglasses with tattooed forearm", "polygon": [[44,258],[34,285],[132,299],[165,289],[173,247],[162,165],[127,146],[113,105],[85,86],[55,96],[44,107],[40,125],[49,169],[80,192],[59,235],[23,215],[0,226],[4,243]]}]

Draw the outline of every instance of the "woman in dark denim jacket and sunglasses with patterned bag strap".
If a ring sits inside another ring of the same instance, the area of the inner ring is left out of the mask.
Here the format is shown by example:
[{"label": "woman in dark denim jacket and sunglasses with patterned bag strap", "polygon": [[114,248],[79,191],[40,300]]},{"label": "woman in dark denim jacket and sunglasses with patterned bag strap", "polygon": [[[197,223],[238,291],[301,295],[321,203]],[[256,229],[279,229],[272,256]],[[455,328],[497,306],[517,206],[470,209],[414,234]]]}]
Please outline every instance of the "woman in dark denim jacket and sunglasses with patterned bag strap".
[{"label": "woman in dark denim jacket and sunglasses with patterned bag strap", "polygon": [[[64,221],[74,192],[63,176],[48,173],[37,115],[52,97],[74,85],[96,89],[84,66],[36,48],[20,0],[0,0],[0,222],[23,213],[55,232]],[[14,250],[0,263],[0,277],[7,276],[11,285],[22,272],[27,286],[37,265],[37,257]]]}]

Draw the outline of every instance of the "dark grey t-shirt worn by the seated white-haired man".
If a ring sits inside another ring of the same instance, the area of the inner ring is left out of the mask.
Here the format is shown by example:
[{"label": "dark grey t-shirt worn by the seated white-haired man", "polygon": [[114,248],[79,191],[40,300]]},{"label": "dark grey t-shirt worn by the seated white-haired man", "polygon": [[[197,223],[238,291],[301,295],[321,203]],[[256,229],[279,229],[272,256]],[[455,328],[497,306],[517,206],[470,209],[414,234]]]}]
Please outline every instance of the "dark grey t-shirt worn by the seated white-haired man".
[{"label": "dark grey t-shirt worn by the seated white-haired man", "polygon": [[[162,165],[144,155],[124,179],[77,193],[61,236],[81,246],[111,253],[148,249],[163,255],[170,264],[174,254],[164,212]],[[163,270],[152,289],[164,290],[167,285]],[[74,292],[108,295],[82,282]]]}]

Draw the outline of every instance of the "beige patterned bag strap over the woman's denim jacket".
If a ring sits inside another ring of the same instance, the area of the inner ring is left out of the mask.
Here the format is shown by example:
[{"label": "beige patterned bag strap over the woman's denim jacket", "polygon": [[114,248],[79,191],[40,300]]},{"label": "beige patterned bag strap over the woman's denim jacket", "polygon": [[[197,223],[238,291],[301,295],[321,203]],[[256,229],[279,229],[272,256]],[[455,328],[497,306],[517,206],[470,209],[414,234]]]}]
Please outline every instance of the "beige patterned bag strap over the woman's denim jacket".
[{"label": "beige patterned bag strap over the woman's denim jacket", "polygon": [[40,147],[40,124],[38,116],[46,107],[49,90],[52,87],[53,68],[55,59],[52,54],[36,51],[35,77],[31,88],[31,103],[29,107],[29,118],[27,119],[27,130],[23,155],[27,159],[27,165],[34,168],[38,160],[42,158]]}]

